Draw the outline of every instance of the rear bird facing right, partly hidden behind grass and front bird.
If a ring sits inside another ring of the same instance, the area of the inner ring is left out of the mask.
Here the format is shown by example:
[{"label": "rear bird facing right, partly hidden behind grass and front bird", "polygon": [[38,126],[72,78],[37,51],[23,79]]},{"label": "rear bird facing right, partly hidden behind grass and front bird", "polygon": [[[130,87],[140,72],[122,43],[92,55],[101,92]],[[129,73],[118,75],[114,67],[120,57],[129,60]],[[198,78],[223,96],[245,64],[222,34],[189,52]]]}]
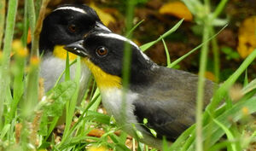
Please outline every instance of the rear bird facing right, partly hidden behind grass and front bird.
[{"label": "rear bird facing right, partly hidden behind grass and front bird", "polygon": [[[63,45],[84,38],[92,29],[110,32],[96,11],[85,4],[64,4],[45,17],[39,37],[39,53],[42,55],[40,78],[44,79],[45,92],[55,86],[55,82],[66,68],[67,50],[63,49]],[[69,61],[76,58],[76,55],[69,54]],[[79,102],[83,99],[90,78],[88,68],[84,65],[81,68],[80,82],[83,85],[79,88]],[[75,77],[75,70],[75,66],[70,67],[72,79]],[[61,81],[63,80],[61,78]]]}]

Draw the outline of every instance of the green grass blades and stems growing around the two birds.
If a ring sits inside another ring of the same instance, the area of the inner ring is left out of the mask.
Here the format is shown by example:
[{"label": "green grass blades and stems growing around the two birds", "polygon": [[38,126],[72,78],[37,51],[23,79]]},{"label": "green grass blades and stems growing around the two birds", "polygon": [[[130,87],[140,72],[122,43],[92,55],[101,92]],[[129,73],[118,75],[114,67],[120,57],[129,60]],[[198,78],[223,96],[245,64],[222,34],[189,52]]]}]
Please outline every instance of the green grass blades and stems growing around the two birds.
[{"label": "green grass blades and stems growing around the two birds", "polygon": [[[129,2],[127,4],[129,7],[127,7],[126,35],[131,38],[132,31],[136,30],[136,27],[142,22],[139,22],[137,26],[132,28],[132,12],[137,1],[133,0]],[[1,1],[0,6],[4,6],[2,5],[4,3],[5,1]],[[13,58],[14,63],[10,64],[9,55],[12,50],[11,44],[15,29],[17,3],[17,0],[9,0],[6,20],[5,14],[3,13],[4,7],[0,7],[0,29],[1,27],[3,28],[4,22],[6,25],[3,38],[3,53],[1,52],[2,55],[0,55],[0,150],[39,150],[49,148],[52,150],[81,150],[90,145],[105,146],[117,151],[130,150],[125,146],[127,136],[125,132],[120,132],[119,136],[114,134],[121,127],[115,125],[113,117],[96,112],[101,102],[101,96],[99,90],[96,89],[95,82],[91,81],[93,88],[87,91],[86,98],[88,98],[87,100],[89,102],[85,102],[82,106],[76,106],[79,73],[81,72],[80,59],[73,62],[67,60],[67,68],[63,71],[63,73],[66,73],[66,80],[62,83],[57,82],[55,88],[38,100],[38,90],[40,91],[38,88],[38,33],[41,29],[47,1],[43,0],[42,5],[40,5],[39,1],[36,3],[41,9],[38,9],[38,7],[35,8],[32,0],[26,1],[24,8],[24,33],[21,39],[22,44],[26,44],[27,25],[29,25],[32,30],[32,55],[22,55],[20,53],[23,52],[20,51],[22,47],[20,49],[13,49],[15,52]],[[190,50],[188,54],[183,55],[177,61],[170,60],[164,38],[175,32],[178,26],[182,25],[183,20],[180,20],[176,26],[171,27],[160,38],[141,46],[141,49],[145,51],[152,45],[162,41],[166,49],[167,67],[175,67],[185,57],[188,57],[195,50],[201,48],[196,123],[189,127],[187,131],[184,131],[172,146],[164,143],[164,150],[215,151],[225,148],[228,151],[239,151],[248,148],[251,142],[255,142],[256,138],[253,117],[250,115],[250,113],[256,112],[256,97],[253,96],[256,92],[256,79],[248,83],[246,71],[247,67],[256,58],[256,49],[241,63],[240,67],[237,67],[236,72],[220,85],[212,98],[212,102],[203,112],[202,88],[204,81],[202,79],[207,67],[207,54],[211,50],[210,43],[212,43],[214,54],[215,75],[217,78],[219,75],[216,35],[223,29],[215,32],[212,22],[214,22],[213,20],[217,20],[218,15],[224,9],[227,1],[222,0],[212,13],[210,2],[207,0],[204,3],[198,0],[184,1],[184,3],[187,4],[189,10],[195,15],[197,23],[204,26],[201,44],[195,49]],[[0,44],[2,44],[1,37],[0,35]],[[129,62],[129,54],[125,58]],[[26,65],[26,61],[30,61],[30,63]],[[129,64],[125,63],[126,65]],[[70,80],[69,77],[68,71],[70,66],[77,67],[74,80]],[[26,70],[27,67],[29,70]],[[125,68],[129,68],[129,66]],[[124,73],[127,76],[125,78],[127,80],[126,86],[129,86],[129,70],[127,69]],[[241,89],[242,97],[236,100],[236,102],[233,102],[229,96],[230,88],[243,74],[246,74],[246,76],[244,78],[243,88]],[[11,94],[10,88],[12,88],[13,94]],[[219,107],[219,104],[224,99],[226,104]],[[64,108],[66,108],[67,112],[66,126],[61,141],[56,143],[54,142],[55,138],[52,131]],[[75,113],[79,113],[80,116],[74,116]],[[73,121],[75,122],[73,123]],[[237,125],[237,122],[240,125]],[[105,134],[102,137],[87,136],[94,128],[101,128],[105,131]],[[226,136],[226,138],[222,136]],[[113,141],[112,143],[108,141],[109,138]],[[133,143],[135,142],[136,140],[133,139]],[[153,151],[155,149],[150,149],[143,145],[143,143],[139,143],[137,150]]]}]

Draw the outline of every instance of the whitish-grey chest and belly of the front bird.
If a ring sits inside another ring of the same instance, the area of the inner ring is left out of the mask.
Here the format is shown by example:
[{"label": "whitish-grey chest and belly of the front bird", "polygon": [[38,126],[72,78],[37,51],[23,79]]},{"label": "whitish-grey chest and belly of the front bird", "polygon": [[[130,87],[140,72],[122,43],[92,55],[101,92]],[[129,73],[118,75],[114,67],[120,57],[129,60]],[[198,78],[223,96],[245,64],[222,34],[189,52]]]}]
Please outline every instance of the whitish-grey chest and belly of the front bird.
[{"label": "whitish-grey chest and belly of the front bird", "polygon": [[137,117],[134,114],[135,106],[133,104],[133,102],[139,100],[137,93],[129,91],[126,93],[125,99],[123,99],[123,91],[119,89],[101,90],[101,94],[103,106],[106,108],[109,115],[113,115],[122,130],[136,137],[137,134],[133,126],[136,125],[136,130],[143,133],[143,142],[147,142],[153,146],[161,146],[161,140],[151,136],[137,121]]}]

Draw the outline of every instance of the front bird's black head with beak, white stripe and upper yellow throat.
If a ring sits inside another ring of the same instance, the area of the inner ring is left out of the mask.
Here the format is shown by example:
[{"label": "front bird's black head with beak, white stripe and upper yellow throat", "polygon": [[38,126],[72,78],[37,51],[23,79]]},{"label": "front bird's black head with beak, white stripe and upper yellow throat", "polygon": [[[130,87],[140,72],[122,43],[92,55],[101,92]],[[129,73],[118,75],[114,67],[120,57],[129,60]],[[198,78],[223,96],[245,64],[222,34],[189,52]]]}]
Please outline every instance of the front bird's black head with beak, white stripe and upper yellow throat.
[{"label": "front bird's black head with beak, white stripe and upper yellow throat", "polygon": [[147,80],[145,75],[156,67],[154,62],[143,54],[137,44],[113,32],[90,32],[83,40],[68,44],[64,49],[84,57],[95,77],[104,78],[108,74],[122,78],[125,44],[131,46],[131,84]]}]

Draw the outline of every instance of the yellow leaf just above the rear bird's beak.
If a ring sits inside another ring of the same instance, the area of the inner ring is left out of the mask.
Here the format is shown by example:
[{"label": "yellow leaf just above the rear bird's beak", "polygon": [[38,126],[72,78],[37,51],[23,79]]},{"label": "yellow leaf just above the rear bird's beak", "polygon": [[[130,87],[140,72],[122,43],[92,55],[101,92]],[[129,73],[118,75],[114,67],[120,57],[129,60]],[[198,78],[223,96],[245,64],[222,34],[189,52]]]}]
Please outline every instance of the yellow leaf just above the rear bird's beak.
[{"label": "yellow leaf just above the rear bird's beak", "polygon": [[102,20],[105,26],[108,26],[110,22],[113,22],[113,23],[115,22],[115,19],[113,18],[112,15],[109,15],[105,13],[102,9],[97,8],[94,3],[90,3],[90,7],[92,9],[95,9],[96,13],[99,15],[100,19]]}]

